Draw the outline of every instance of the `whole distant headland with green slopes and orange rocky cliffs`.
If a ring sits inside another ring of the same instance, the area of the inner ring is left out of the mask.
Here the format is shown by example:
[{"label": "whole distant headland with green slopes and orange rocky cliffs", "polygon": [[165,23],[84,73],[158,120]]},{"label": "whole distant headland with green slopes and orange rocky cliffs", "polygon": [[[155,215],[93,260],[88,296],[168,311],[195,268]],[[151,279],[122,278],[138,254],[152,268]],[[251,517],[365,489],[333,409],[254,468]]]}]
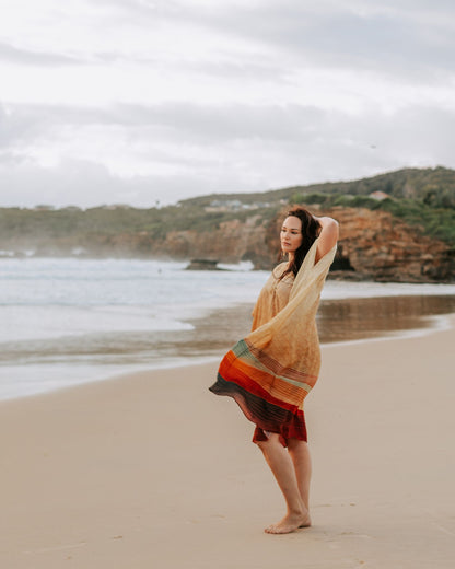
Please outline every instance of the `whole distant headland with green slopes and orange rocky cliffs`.
[{"label": "whole distant headland with green slopes and orange rocky cliffs", "polygon": [[163,208],[1,208],[0,257],[250,260],[255,268],[269,269],[277,260],[279,224],[290,204],[339,220],[331,278],[455,279],[455,171],[442,166],[256,194],[209,195]]}]

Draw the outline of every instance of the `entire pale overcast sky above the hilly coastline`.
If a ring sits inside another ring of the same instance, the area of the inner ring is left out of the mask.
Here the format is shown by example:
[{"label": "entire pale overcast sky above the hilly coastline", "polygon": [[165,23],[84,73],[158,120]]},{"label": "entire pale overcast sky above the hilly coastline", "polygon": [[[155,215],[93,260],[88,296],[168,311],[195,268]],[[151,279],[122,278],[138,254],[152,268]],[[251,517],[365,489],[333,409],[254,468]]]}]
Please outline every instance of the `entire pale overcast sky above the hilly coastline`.
[{"label": "entire pale overcast sky above the hilly coastline", "polygon": [[455,167],[453,0],[0,0],[0,206]]}]

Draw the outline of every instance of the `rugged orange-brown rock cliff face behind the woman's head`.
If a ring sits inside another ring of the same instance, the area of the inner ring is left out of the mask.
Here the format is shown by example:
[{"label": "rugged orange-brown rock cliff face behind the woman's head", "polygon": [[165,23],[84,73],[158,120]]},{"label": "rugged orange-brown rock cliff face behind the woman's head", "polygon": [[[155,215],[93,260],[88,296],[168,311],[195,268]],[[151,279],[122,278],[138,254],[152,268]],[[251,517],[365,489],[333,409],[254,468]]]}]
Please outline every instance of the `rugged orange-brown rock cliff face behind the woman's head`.
[{"label": "rugged orange-brown rock cliff face behind the woman's head", "polygon": [[[444,242],[422,235],[386,211],[366,208],[322,209],[311,206],[318,216],[330,216],[340,223],[340,240],[331,278],[399,282],[448,281],[454,274],[453,249]],[[255,268],[269,269],[280,249],[279,228],[282,213],[272,220],[252,216],[234,219],[218,229],[171,231],[151,243],[155,255],[173,258],[190,256],[223,263],[252,260]]]}]

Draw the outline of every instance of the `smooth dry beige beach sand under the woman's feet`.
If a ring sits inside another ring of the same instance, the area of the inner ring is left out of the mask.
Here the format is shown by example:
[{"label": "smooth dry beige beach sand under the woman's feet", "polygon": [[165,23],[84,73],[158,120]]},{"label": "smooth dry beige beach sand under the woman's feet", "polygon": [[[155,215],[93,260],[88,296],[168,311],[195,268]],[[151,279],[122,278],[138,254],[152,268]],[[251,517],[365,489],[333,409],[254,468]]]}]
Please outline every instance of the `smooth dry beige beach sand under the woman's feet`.
[{"label": "smooth dry beige beach sand under the woman's feet", "polygon": [[217,364],[0,403],[0,567],[452,568],[452,329],[323,348],[305,402],[314,525],[283,513]]}]

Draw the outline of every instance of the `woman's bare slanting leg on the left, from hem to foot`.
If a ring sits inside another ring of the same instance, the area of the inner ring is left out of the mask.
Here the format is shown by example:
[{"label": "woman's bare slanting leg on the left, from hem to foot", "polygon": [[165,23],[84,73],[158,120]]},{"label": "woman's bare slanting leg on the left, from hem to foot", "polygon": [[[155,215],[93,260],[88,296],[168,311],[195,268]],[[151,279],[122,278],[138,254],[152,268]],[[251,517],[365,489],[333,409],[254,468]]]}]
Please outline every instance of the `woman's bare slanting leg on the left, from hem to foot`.
[{"label": "woman's bare slanting leg on the left, from hem to foot", "polygon": [[266,527],[266,532],[290,533],[298,527],[310,525],[310,514],[301,496],[294,464],[291,455],[280,443],[279,434],[270,433],[267,441],[259,441],[257,444],[283,492],[288,510],[284,518],[280,522]]}]

